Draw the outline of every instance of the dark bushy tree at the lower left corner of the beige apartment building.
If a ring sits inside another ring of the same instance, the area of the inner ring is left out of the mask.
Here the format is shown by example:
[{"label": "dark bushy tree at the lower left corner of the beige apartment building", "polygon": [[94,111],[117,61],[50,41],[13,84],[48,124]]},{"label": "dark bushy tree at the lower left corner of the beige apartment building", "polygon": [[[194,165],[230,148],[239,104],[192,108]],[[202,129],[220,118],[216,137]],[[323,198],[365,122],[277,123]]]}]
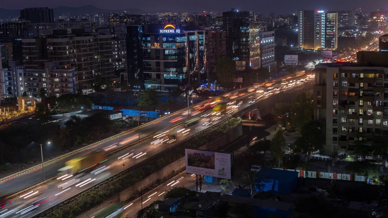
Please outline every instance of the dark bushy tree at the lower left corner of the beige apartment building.
[{"label": "dark bushy tree at the lower left corner of the beige apartment building", "polygon": [[311,153],[322,148],[325,141],[324,125],[319,121],[310,121],[300,130],[300,137],[295,141],[294,152],[307,154],[310,160]]}]

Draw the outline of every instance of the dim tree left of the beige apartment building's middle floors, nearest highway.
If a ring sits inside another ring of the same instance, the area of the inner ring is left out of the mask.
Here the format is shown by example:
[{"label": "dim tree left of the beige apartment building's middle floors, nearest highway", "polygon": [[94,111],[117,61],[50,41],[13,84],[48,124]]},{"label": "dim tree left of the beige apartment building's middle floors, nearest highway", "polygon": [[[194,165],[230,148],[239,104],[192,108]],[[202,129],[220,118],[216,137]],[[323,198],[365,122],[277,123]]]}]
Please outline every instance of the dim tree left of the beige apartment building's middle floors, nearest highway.
[{"label": "dim tree left of the beige apartment building's middle floors, nearest highway", "polygon": [[292,120],[291,125],[296,128],[302,128],[305,123],[312,120],[314,116],[313,98],[310,93],[300,93],[296,96],[291,106]]}]

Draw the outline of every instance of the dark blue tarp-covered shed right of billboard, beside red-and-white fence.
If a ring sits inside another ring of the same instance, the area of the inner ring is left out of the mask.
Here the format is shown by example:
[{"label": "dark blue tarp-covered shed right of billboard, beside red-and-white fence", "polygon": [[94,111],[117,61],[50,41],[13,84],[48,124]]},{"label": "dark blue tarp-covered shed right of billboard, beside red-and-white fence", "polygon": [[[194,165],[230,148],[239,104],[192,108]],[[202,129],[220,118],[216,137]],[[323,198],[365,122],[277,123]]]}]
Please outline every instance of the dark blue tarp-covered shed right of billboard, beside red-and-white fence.
[{"label": "dark blue tarp-covered shed right of billboard, beside red-and-white fence", "polygon": [[298,176],[296,171],[263,168],[255,174],[255,189],[288,195],[298,185]]}]

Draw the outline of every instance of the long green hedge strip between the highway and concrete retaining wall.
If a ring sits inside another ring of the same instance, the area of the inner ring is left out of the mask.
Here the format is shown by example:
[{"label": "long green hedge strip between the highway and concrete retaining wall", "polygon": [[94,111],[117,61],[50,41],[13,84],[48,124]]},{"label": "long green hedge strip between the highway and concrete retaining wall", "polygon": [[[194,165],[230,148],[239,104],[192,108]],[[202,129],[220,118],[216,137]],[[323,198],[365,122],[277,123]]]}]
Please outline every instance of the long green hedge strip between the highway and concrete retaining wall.
[{"label": "long green hedge strip between the highway and concrete retaining wall", "polygon": [[[100,183],[91,189],[81,193],[80,195],[64,201],[61,204],[50,209],[41,218],[73,218],[78,216],[88,209],[101,204],[106,199],[118,194],[119,192],[131,187],[135,183],[141,181],[145,177],[155,173],[168,164],[173,163],[185,155],[185,148],[196,149],[213,141],[226,131],[231,130],[240,122],[239,118],[231,118],[225,123],[218,125],[216,128],[205,131],[190,141],[180,143],[168,151],[161,152],[154,157],[150,157],[149,161],[144,161],[143,164],[137,166],[135,170],[125,170],[118,175],[109,178],[109,180]],[[161,180],[159,182],[162,182]]]}]

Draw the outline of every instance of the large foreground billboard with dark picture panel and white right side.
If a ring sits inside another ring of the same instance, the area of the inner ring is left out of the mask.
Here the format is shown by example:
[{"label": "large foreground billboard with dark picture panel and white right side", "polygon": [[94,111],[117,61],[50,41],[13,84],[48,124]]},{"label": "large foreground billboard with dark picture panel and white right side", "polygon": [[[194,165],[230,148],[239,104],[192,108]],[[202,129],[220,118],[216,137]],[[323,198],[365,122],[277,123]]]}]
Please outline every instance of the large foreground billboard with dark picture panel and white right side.
[{"label": "large foreground billboard with dark picture panel and white right side", "polygon": [[232,156],[228,153],[185,149],[186,173],[231,178]]}]

